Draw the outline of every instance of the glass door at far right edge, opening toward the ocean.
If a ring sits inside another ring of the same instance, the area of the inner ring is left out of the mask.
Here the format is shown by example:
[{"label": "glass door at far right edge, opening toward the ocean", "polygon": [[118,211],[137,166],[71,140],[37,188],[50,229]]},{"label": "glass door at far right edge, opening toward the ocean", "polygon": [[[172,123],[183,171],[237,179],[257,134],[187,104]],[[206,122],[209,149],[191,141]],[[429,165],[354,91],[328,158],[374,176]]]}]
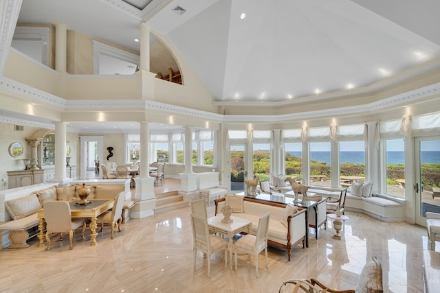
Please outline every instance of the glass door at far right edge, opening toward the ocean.
[{"label": "glass door at far right edge, opening toward the ocean", "polygon": [[417,224],[426,226],[426,212],[440,213],[440,138],[415,139]]}]

